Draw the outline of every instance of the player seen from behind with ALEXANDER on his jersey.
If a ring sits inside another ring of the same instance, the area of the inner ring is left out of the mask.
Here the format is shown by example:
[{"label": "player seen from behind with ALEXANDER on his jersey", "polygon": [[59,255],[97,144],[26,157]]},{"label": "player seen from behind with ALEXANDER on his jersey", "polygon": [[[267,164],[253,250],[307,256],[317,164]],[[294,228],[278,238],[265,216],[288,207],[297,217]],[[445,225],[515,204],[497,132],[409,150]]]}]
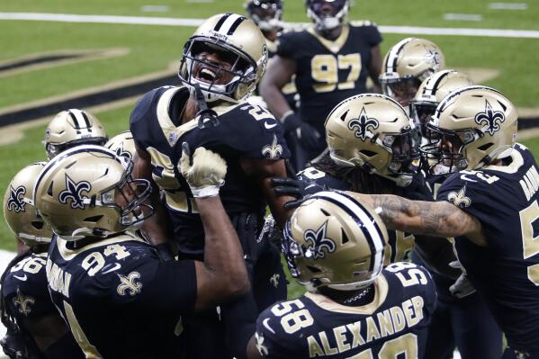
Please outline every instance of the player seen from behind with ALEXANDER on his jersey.
[{"label": "player seen from behind with ALEXANDER on his jersey", "polygon": [[376,211],[347,193],[320,192],[284,229],[283,253],[308,292],[256,321],[250,358],[422,358],[436,304],[428,272],[382,269],[387,231]]}]

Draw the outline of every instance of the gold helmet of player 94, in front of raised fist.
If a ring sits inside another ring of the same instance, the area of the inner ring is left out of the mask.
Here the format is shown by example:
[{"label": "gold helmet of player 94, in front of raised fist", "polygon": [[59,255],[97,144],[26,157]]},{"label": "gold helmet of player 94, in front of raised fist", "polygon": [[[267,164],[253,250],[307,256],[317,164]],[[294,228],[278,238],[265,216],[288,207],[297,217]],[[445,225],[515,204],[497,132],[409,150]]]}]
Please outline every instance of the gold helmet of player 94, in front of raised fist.
[{"label": "gold helmet of player 94, in front of raised fist", "polygon": [[49,161],[35,185],[41,217],[61,238],[107,237],[136,229],[153,209],[145,179],[132,179],[133,163],[108,148],[83,145]]}]

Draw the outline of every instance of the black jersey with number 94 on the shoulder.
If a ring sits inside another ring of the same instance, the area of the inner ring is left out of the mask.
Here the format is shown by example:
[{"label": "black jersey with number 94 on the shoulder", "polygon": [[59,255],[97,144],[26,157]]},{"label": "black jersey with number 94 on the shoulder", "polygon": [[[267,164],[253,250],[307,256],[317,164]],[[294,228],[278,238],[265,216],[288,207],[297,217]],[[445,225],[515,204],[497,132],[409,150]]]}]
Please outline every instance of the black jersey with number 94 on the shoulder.
[{"label": "black jersey with number 94 on the shoulder", "polygon": [[183,357],[182,318],[196,301],[192,261],[162,261],[135,235],[73,250],[55,237],[47,277],[86,357]]}]

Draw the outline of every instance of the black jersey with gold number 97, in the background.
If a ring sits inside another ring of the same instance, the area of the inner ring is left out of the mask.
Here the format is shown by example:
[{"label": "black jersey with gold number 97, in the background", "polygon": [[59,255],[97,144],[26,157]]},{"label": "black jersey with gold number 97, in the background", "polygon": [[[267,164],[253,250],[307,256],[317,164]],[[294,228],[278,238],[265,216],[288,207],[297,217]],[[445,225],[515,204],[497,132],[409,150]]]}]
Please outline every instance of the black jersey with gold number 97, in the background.
[{"label": "black jersey with gold number 97, in the background", "polygon": [[284,32],[277,54],[296,62],[301,119],[325,133],[324,121],[337,103],[366,91],[371,49],[381,41],[372,22],[346,25],[333,41],[319,36],[312,26]]}]

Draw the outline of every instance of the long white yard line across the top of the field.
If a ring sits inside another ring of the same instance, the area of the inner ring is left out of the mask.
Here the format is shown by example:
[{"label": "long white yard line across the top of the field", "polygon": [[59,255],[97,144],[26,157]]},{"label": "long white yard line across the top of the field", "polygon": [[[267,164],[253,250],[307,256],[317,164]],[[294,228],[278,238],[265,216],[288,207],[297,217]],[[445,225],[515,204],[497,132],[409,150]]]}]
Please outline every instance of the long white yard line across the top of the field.
[{"label": "long white yard line across the top of the field", "polygon": [[[161,26],[198,26],[204,21],[204,19],[182,19],[173,17],[77,15],[69,13],[0,13],[0,20],[123,23]],[[539,31],[535,30],[437,28],[419,26],[379,26],[378,28],[383,33],[539,39]]]}]

